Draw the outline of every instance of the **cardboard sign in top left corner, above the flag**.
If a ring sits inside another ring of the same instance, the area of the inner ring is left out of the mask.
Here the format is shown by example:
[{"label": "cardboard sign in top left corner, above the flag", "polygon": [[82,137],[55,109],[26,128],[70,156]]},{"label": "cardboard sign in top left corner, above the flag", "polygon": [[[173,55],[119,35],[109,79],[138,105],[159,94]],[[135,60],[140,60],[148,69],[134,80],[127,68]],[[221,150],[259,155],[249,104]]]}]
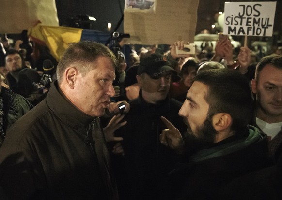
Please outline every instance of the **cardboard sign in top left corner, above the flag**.
[{"label": "cardboard sign in top left corner, above the flag", "polygon": [[59,26],[55,0],[1,0],[0,33],[21,33],[38,21]]}]

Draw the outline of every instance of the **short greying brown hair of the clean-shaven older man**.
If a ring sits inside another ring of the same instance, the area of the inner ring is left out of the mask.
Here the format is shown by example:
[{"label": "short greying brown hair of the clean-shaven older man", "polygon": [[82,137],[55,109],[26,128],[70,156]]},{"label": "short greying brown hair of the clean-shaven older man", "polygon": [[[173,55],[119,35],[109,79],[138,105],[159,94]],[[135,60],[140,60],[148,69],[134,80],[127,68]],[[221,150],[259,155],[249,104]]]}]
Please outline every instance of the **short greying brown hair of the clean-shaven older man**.
[{"label": "short greying brown hair of the clean-shaven older man", "polygon": [[100,56],[108,57],[113,67],[117,67],[118,61],[116,56],[105,45],[91,41],[70,43],[70,46],[64,52],[63,57],[57,65],[58,82],[61,82],[64,70],[71,64],[77,64],[78,70],[86,74],[89,71],[89,63],[94,62]]}]

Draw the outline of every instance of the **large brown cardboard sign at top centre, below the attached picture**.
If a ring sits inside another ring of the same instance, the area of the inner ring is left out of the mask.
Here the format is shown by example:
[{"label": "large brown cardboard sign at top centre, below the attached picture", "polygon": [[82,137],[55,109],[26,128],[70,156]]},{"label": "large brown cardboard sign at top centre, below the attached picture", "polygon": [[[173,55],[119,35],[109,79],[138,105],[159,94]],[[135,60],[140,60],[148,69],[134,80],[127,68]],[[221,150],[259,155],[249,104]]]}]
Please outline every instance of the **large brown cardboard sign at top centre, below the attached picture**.
[{"label": "large brown cardboard sign at top centre, below the attached picture", "polygon": [[124,32],[130,34],[126,43],[193,43],[199,0],[155,0],[155,4],[155,12],[125,9]]}]

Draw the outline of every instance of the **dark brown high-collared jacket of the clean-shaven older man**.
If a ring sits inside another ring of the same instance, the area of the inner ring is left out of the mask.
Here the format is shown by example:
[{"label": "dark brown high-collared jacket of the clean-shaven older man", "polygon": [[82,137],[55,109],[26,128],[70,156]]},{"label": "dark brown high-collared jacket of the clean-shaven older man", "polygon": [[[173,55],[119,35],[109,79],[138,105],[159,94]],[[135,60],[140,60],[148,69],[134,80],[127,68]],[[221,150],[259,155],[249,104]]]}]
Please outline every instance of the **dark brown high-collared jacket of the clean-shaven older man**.
[{"label": "dark brown high-collared jacket of the clean-shaven older man", "polygon": [[0,184],[9,199],[117,200],[99,118],[51,86],[45,100],[8,131]]}]

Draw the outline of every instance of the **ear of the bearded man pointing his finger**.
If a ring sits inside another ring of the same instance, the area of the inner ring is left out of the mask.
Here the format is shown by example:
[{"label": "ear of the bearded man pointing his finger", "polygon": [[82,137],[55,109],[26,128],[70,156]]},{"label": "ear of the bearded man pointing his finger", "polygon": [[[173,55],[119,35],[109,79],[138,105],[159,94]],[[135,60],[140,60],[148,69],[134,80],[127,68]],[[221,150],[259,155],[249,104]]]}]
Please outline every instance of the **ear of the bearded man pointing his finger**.
[{"label": "ear of the bearded man pointing his finger", "polygon": [[218,113],[212,118],[212,125],[217,132],[230,129],[232,125],[232,117],[228,113]]}]

